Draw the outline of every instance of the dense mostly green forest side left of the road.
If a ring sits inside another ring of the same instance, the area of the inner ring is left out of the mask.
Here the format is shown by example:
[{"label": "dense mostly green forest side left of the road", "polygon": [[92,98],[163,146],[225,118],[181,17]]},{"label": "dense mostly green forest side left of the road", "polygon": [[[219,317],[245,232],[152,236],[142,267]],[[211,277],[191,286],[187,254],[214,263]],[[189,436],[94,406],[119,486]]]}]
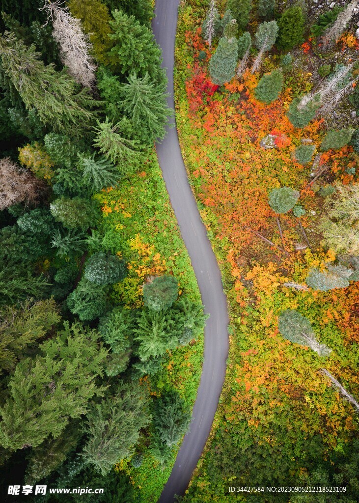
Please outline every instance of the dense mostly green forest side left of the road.
[{"label": "dense mostly green forest side left of the road", "polygon": [[0,499],[156,501],[206,316],[154,149],[172,111],[153,3],[0,12]]}]

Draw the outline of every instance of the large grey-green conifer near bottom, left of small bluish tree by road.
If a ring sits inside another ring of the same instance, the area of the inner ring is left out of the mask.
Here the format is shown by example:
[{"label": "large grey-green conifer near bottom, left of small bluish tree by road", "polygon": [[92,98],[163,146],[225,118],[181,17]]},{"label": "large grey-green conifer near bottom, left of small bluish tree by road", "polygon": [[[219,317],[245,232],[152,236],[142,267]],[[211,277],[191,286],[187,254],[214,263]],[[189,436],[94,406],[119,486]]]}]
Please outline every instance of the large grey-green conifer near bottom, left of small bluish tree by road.
[{"label": "large grey-green conifer near bottom, left of small bluish tree by road", "polygon": [[87,442],[83,458],[106,475],[115,463],[128,457],[149,422],[146,388],[136,382],[119,382],[113,397],[103,400],[87,415]]}]

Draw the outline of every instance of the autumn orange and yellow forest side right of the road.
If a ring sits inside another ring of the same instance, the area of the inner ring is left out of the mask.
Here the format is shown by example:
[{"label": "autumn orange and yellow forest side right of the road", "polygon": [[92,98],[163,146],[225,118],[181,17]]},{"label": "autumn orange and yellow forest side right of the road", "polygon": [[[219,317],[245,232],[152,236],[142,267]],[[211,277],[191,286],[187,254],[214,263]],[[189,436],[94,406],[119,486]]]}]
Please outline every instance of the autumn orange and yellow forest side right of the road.
[{"label": "autumn orange and yellow forest side right of the road", "polygon": [[356,1],[180,4],[177,129],[230,314],[186,503],[359,499],[358,13]]}]

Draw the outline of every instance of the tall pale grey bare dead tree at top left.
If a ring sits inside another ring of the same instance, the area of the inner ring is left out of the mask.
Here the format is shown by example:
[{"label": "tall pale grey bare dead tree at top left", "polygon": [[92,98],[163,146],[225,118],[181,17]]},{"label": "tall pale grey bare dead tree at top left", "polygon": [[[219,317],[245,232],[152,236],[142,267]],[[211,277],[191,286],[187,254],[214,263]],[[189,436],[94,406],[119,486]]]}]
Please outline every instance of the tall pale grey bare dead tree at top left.
[{"label": "tall pale grey bare dead tree at top left", "polygon": [[92,44],[82,31],[79,19],[73,18],[67,8],[61,7],[62,0],[46,1],[43,9],[52,20],[52,36],[60,46],[62,63],[76,82],[90,87],[95,80],[96,64],[90,52]]}]

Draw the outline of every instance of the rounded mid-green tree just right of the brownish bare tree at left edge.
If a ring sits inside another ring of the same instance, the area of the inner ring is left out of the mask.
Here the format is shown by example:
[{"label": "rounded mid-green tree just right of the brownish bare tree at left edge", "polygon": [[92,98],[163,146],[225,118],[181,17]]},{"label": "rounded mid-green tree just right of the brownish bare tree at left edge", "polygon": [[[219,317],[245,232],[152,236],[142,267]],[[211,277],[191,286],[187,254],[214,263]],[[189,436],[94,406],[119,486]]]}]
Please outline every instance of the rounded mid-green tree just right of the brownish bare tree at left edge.
[{"label": "rounded mid-green tree just right of the brownish bare tree at left edge", "polygon": [[91,227],[98,218],[94,204],[80,197],[70,199],[62,196],[55,199],[50,204],[50,211],[55,220],[61,222],[66,229],[85,230]]}]

